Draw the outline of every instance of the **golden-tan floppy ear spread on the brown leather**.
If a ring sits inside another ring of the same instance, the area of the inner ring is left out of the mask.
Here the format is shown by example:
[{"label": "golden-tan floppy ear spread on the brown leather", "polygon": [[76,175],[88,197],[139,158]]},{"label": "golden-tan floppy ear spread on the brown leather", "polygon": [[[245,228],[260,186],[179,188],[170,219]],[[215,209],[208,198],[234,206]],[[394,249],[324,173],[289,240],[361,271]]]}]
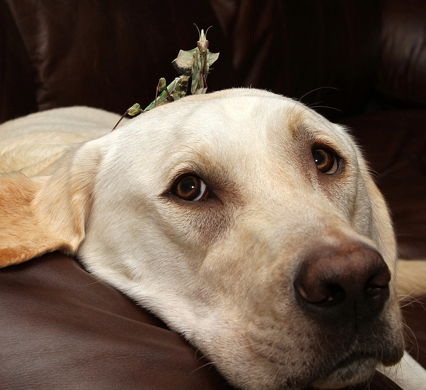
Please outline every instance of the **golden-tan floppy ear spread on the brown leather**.
[{"label": "golden-tan floppy ear spread on the brown leather", "polygon": [[68,153],[52,176],[0,175],[0,267],[77,250],[100,160],[88,144]]}]

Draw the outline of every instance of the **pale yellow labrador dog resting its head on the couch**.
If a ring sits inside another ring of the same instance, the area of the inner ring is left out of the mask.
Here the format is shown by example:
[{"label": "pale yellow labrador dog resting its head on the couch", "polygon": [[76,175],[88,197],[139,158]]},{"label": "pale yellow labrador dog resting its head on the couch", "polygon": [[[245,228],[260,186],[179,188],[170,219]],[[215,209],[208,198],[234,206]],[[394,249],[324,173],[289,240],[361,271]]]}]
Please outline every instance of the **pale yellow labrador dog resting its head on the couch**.
[{"label": "pale yellow labrador dog resting its head on the couch", "polygon": [[[336,389],[398,364],[395,239],[344,128],[254,89],[117,120],[78,107],[0,126],[1,266],[75,254],[241,389]],[[418,390],[414,364],[389,375]]]}]

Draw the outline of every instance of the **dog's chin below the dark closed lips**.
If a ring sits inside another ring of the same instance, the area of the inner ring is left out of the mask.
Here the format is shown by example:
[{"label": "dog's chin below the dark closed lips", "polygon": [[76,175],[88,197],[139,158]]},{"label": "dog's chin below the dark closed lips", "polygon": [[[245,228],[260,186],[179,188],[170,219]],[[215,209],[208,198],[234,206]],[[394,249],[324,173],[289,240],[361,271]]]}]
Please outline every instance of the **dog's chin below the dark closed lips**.
[{"label": "dog's chin below the dark closed lips", "polygon": [[316,389],[339,389],[355,383],[368,382],[374,375],[377,360],[372,357],[354,357],[336,366],[328,376],[316,380],[312,387]]}]

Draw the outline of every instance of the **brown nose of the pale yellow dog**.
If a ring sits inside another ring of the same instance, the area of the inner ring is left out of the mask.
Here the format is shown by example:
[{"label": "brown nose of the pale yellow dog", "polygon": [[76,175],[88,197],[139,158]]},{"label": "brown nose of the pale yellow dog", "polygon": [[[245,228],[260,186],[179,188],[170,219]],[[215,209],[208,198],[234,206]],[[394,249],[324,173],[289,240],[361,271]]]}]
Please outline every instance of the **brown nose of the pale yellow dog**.
[{"label": "brown nose of the pale yellow dog", "polygon": [[294,286],[305,311],[358,323],[376,317],[389,298],[390,273],[382,256],[362,244],[316,249]]}]

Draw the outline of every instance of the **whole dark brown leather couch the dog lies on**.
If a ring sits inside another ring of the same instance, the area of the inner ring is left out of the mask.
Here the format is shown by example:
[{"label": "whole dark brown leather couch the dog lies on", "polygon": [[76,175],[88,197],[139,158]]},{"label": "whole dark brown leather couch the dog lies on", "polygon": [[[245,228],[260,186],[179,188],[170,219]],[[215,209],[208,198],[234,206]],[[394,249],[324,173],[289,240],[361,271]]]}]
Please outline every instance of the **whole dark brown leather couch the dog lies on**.
[{"label": "whole dark brown leather couch the dog lies on", "polygon": [[[0,121],[53,107],[123,113],[198,39],[209,90],[253,86],[350,126],[392,210],[400,256],[426,258],[422,0],[0,0]],[[1,205],[0,205],[1,207]],[[426,277],[426,276],[425,276]],[[426,311],[403,302],[426,367]],[[62,253],[0,271],[0,388],[226,389],[164,323]],[[426,386],[426,385],[425,385]],[[398,388],[377,374],[370,389]]]}]

